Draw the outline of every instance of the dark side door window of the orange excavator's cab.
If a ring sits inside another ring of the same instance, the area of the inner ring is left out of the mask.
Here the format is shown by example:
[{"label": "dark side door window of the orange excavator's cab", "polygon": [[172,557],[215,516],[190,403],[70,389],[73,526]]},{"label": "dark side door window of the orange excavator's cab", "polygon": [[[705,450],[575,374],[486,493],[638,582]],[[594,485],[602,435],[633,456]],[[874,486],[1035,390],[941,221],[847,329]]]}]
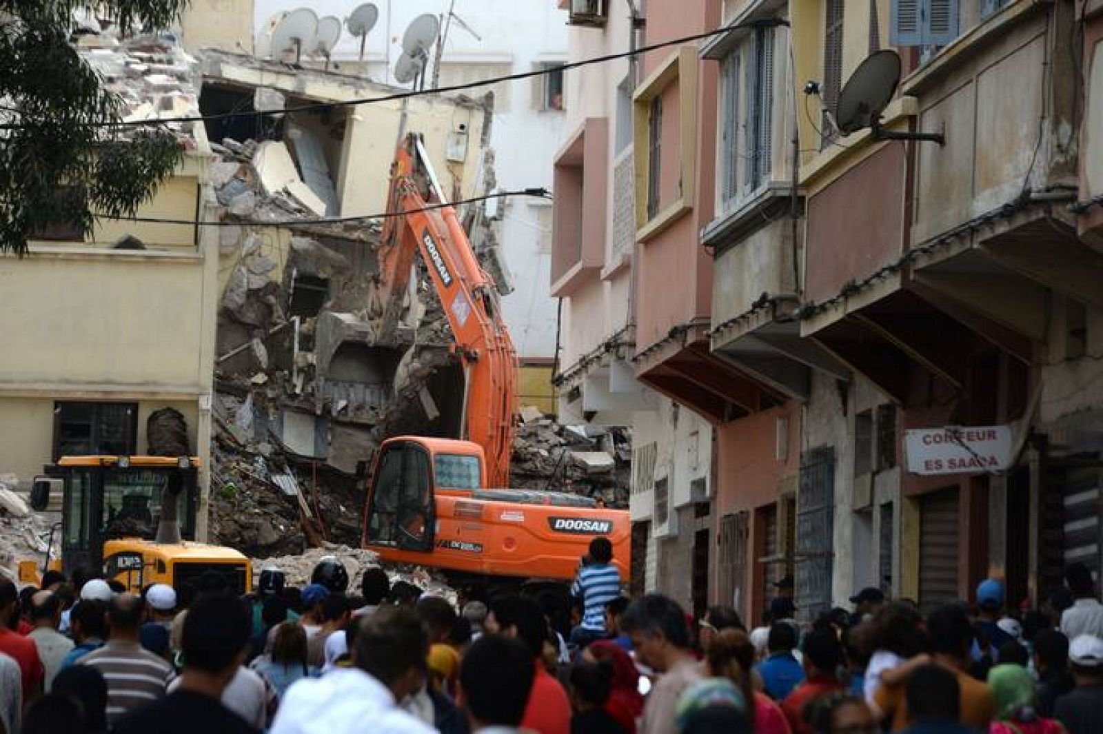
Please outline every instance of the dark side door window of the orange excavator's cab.
[{"label": "dark side door window of the orange excavator's cab", "polygon": [[435,515],[429,453],[413,443],[388,446],[372,493],[368,542],[431,550]]}]

